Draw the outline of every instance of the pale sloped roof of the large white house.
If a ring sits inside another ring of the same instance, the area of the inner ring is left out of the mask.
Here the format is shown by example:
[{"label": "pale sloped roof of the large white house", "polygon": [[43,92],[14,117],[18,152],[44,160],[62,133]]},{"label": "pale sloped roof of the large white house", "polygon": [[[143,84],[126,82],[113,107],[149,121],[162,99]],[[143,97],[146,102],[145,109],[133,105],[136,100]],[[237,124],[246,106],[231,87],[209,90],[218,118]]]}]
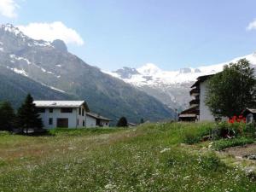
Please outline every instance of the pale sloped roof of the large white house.
[{"label": "pale sloped roof of the large white house", "polygon": [[34,101],[38,108],[80,108],[84,105],[86,111],[89,111],[85,101]]}]

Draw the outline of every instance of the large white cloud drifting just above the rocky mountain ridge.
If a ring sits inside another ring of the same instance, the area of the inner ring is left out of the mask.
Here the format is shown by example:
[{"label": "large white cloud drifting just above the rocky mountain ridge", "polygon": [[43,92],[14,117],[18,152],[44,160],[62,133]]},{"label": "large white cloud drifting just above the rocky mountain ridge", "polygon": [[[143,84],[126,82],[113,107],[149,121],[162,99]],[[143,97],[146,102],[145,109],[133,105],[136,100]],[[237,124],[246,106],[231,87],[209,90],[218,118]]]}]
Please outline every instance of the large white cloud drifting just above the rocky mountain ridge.
[{"label": "large white cloud drifting just above the rocky mountain ridge", "polygon": [[84,44],[84,40],[80,37],[79,33],[72,28],[68,28],[61,21],[52,23],[30,23],[27,26],[18,26],[18,28],[28,37],[34,39],[43,39],[45,41],[61,39],[66,44]]}]

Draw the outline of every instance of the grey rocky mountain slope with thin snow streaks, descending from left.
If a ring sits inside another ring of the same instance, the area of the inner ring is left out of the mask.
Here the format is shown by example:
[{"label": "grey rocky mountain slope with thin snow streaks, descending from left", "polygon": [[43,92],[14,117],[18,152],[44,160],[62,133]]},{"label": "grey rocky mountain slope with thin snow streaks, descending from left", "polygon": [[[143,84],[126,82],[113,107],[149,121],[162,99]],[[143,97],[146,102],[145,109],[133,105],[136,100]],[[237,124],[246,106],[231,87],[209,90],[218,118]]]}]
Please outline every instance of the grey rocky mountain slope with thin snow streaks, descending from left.
[{"label": "grey rocky mountain slope with thin snow streaks, descending from left", "polygon": [[[141,118],[170,119],[174,115],[172,109],[153,96],[102,73],[69,53],[66,44],[61,40],[52,43],[34,40],[10,24],[0,26],[0,67],[8,71],[8,77],[10,72],[13,72],[11,74],[15,73],[31,80],[33,83],[29,85],[30,88],[39,86],[38,84],[42,89],[47,87],[48,90],[41,92],[47,94],[34,95],[36,99],[73,96],[86,100],[91,110],[113,120],[123,115],[132,122],[138,122]],[[9,83],[6,76],[0,73],[0,77],[5,79],[3,84]],[[20,84],[20,79],[14,81]],[[26,83],[23,86],[26,86]],[[54,90],[52,94],[57,94],[48,96],[49,90]],[[15,97],[20,96],[19,92],[14,94]],[[0,99],[5,99],[6,96],[2,95]]]}]

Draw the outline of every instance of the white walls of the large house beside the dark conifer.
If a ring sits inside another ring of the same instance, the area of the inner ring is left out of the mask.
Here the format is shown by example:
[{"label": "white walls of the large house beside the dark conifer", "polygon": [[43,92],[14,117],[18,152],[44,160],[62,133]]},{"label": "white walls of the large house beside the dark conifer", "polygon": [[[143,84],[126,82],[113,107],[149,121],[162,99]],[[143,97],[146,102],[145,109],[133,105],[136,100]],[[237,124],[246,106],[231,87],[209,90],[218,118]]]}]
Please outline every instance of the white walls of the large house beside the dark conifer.
[{"label": "white walls of the large house beside the dark conifer", "polygon": [[[84,107],[83,107],[84,108]],[[68,119],[68,128],[82,128],[86,126],[86,113],[84,109],[84,116],[79,115],[79,108],[73,108],[72,113],[61,113],[61,108],[53,108],[53,113],[49,113],[49,108],[45,108],[45,113],[39,113],[40,118],[42,118],[44,128],[53,129],[57,126],[58,118]],[[49,118],[53,119],[53,124],[49,125]],[[77,120],[79,119],[79,125]],[[83,126],[84,120],[84,126]]]}]

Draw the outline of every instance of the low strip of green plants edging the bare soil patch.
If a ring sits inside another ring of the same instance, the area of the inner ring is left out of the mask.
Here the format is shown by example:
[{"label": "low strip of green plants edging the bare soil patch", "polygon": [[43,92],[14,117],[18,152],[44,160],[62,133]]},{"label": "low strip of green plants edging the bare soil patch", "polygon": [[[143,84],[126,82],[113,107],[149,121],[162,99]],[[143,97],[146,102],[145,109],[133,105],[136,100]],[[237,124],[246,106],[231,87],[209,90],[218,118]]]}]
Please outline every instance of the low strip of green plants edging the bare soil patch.
[{"label": "low strip of green plants edging the bare soil patch", "polygon": [[246,144],[253,143],[253,138],[246,138],[246,137],[238,137],[232,139],[221,139],[212,144],[212,148],[217,150],[222,150],[224,148],[236,147],[236,146],[243,146]]}]

